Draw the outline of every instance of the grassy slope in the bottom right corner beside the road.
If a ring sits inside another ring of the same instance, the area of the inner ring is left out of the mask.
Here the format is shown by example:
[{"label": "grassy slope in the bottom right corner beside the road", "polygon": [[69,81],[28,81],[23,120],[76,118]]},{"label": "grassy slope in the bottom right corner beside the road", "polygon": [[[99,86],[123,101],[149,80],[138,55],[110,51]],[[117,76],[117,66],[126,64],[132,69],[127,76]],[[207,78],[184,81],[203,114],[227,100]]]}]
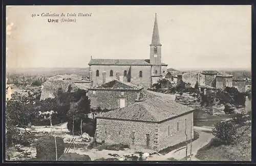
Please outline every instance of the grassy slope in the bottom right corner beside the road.
[{"label": "grassy slope in the bottom right corner beside the road", "polygon": [[232,145],[222,145],[214,138],[198,151],[196,157],[208,161],[250,161],[251,126],[240,127],[236,137]]}]

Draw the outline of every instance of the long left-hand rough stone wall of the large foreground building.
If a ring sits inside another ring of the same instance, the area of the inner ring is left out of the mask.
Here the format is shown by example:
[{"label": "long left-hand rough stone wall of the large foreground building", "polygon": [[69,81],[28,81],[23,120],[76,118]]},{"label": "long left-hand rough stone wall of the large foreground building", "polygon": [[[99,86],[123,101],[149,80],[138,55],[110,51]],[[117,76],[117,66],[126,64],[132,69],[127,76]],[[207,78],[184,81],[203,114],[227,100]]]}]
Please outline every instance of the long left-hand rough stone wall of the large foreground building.
[{"label": "long left-hand rough stone wall of the large foreground building", "polygon": [[[97,118],[96,142],[107,144],[124,144],[131,147],[147,148],[146,134],[149,134],[148,147],[154,149],[154,141],[158,134],[157,123],[107,120]],[[132,135],[134,132],[134,140]]]}]

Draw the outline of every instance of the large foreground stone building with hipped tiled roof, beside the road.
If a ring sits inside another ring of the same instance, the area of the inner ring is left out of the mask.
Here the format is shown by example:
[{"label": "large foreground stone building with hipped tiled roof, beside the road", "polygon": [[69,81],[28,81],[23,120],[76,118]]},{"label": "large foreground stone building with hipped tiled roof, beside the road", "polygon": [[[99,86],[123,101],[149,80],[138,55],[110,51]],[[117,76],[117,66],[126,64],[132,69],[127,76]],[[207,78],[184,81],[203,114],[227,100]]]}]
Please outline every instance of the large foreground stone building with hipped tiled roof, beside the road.
[{"label": "large foreground stone building with hipped tiled roof, beside the road", "polygon": [[193,110],[162,97],[115,109],[96,118],[96,142],[159,151],[194,138]]}]

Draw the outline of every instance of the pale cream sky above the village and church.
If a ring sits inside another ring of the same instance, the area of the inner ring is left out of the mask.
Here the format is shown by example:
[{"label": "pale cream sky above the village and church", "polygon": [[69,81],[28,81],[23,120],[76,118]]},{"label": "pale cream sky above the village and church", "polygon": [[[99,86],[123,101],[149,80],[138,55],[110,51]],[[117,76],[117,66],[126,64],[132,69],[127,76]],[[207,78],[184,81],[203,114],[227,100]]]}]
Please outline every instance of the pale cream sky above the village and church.
[{"label": "pale cream sky above the village and church", "polygon": [[[92,13],[49,23],[42,13]],[[149,59],[157,13],[162,63],[174,69],[250,69],[251,6],[10,6],[7,68],[88,67]],[[32,14],[39,16],[32,17]]]}]

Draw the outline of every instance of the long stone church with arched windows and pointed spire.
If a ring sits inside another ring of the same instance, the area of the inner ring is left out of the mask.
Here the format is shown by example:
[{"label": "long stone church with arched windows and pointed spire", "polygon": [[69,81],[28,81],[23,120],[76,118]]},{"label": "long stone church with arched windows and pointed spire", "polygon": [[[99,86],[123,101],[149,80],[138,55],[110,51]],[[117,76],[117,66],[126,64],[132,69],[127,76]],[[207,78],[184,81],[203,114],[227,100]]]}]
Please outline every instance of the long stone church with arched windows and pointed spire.
[{"label": "long stone church with arched windows and pointed spire", "polygon": [[167,64],[161,62],[161,47],[157,14],[150,44],[150,59],[91,59],[89,77],[93,86],[117,79],[133,85],[151,87],[162,79]]}]

